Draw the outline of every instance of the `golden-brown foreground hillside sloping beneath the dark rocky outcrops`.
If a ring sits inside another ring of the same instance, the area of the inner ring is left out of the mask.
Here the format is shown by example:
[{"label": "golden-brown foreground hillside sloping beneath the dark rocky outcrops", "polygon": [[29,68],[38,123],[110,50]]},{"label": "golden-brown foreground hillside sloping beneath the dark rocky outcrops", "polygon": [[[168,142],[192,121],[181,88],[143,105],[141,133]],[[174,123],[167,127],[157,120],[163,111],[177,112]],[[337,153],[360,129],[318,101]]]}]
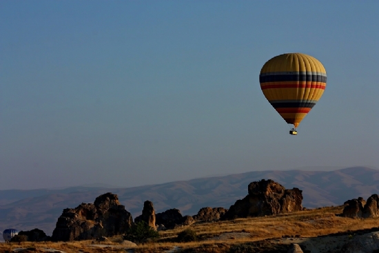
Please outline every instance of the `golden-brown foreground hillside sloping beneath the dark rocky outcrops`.
[{"label": "golden-brown foreground hillside sloping beneath the dark rocky outcrops", "polygon": [[0,251],[287,253],[291,243],[297,243],[303,252],[310,253],[377,252],[372,247],[379,246],[378,241],[373,240],[379,236],[379,219],[351,219],[340,216],[341,212],[342,206],[337,206],[276,216],[199,222],[186,227],[197,234],[197,240],[191,242],[177,241],[183,231],[183,227],[178,227],[159,232],[157,241],[139,245],[114,236],[106,241],[0,243]]}]

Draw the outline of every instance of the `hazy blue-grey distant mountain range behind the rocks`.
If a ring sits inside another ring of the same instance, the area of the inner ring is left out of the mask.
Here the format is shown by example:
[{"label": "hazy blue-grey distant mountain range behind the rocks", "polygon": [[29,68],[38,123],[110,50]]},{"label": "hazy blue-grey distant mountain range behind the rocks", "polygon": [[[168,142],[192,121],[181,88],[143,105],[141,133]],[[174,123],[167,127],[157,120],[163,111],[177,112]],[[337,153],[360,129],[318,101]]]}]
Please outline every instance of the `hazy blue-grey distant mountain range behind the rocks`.
[{"label": "hazy blue-grey distant mountain range behind the rocks", "polygon": [[93,203],[106,192],[117,194],[133,218],[141,214],[146,200],[154,203],[156,212],[177,208],[183,215],[194,215],[205,207],[229,208],[247,195],[249,183],[261,179],[272,179],[287,189],[303,190],[306,208],[342,205],[358,196],[367,199],[371,194],[379,194],[379,170],[365,167],[246,172],[134,188],[81,186],[61,190],[0,190],[0,230],[39,228],[51,235],[64,208]]}]

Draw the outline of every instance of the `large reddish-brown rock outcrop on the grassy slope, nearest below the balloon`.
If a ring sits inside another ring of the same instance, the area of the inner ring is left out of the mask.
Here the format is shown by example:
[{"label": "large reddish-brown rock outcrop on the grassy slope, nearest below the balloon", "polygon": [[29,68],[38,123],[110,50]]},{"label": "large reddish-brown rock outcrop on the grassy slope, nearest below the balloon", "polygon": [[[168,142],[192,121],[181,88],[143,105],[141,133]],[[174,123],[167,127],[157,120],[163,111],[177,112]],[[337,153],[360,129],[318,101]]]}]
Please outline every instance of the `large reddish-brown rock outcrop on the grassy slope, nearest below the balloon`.
[{"label": "large reddish-brown rock outcrop on the grassy slope, nearest below the balloon", "polygon": [[236,201],[222,219],[265,216],[303,210],[302,190],[286,190],[283,185],[269,180],[249,183],[248,195]]}]

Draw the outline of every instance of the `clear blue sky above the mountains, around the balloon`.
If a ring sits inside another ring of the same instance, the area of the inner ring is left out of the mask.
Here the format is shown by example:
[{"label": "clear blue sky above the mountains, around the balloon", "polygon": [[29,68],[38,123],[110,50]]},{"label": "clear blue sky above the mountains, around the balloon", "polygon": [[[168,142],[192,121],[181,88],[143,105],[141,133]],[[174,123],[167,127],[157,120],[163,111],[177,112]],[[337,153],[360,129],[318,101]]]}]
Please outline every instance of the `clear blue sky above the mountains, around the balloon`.
[{"label": "clear blue sky above the mountains, around the balloon", "polygon": [[[0,1],[0,190],[379,168],[379,1]],[[259,72],[303,52],[298,127]]]}]

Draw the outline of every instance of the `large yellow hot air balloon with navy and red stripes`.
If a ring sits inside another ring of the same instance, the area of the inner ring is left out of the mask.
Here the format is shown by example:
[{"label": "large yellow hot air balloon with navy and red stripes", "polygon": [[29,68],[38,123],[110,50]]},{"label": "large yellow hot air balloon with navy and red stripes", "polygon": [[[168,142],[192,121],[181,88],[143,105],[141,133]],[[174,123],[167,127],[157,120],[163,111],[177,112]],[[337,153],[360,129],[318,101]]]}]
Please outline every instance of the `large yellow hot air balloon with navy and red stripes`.
[{"label": "large yellow hot air balloon with navy and red stripes", "polygon": [[318,59],[307,54],[280,54],[263,65],[260,88],[274,109],[296,128],[324,93],[327,72]]}]

